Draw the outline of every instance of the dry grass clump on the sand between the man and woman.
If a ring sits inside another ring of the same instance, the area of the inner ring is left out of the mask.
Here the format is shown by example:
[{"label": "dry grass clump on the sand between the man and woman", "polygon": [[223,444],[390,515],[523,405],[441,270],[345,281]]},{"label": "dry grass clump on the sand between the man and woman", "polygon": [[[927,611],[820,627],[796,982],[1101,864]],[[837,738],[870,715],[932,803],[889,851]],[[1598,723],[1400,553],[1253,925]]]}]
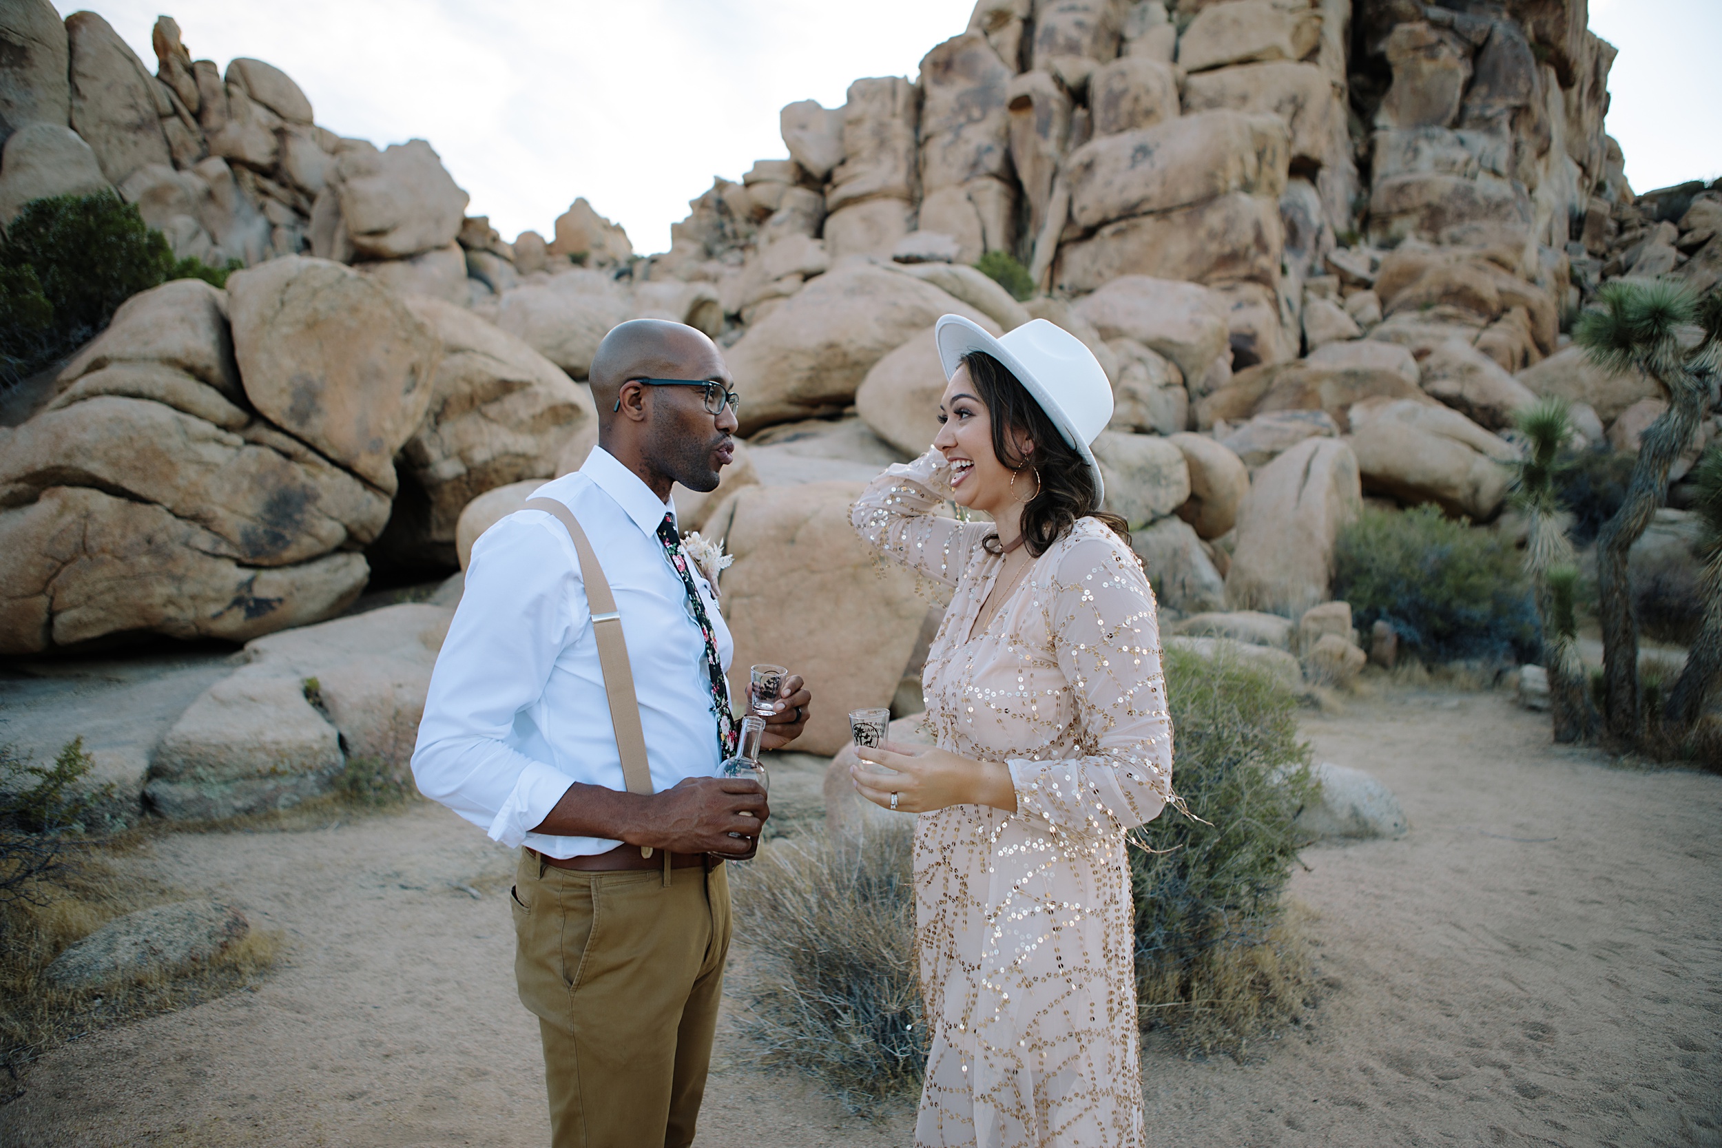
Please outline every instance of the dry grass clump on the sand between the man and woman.
[{"label": "dry grass clump on the sand between the man and woman", "polygon": [[926,1062],[911,866],[911,831],[892,826],[780,838],[732,867],[740,1028],[851,1110],[914,1093]]}]

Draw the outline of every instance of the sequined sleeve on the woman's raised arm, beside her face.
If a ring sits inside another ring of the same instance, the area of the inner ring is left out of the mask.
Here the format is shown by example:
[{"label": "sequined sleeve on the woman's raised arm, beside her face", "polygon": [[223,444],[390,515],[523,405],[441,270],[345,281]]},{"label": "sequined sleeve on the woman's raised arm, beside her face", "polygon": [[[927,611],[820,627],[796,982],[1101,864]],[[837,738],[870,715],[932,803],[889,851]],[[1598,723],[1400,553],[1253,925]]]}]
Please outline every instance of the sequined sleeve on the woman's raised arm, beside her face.
[{"label": "sequined sleeve on the woman's raised arm, beside her face", "polygon": [[868,484],[849,520],[870,546],[935,582],[956,585],[980,552],[988,523],[963,523],[933,511],[951,496],[949,465],[937,449],[894,463]]}]

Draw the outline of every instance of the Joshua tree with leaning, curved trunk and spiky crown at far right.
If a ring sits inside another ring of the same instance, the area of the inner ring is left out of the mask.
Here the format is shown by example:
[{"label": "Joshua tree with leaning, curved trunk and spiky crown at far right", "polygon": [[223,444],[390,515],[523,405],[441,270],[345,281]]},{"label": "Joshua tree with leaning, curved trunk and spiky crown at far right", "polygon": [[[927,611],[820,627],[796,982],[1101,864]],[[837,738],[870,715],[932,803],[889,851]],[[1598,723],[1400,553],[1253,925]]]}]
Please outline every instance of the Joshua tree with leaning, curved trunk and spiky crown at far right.
[{"label": "Joshua tree with leaning, curved trunk and spiky crown at far right", "polygon": [[1645,731],[1638,688],[1638,625],[1627,551],[1650,525],[1669,491],[1669,468],[1693,441],[1722,367],[1722,291],[1703,301],[1684,284],[1612,282],[1596,293],[1574,339],[1591,361],[1614,372],[1638,370],[1669,392],[1669,410],[1645,430],[1626,501],[1596,535],[1598,614],[1603,628],[1603,719],[1608,733],[1636,745]]}]

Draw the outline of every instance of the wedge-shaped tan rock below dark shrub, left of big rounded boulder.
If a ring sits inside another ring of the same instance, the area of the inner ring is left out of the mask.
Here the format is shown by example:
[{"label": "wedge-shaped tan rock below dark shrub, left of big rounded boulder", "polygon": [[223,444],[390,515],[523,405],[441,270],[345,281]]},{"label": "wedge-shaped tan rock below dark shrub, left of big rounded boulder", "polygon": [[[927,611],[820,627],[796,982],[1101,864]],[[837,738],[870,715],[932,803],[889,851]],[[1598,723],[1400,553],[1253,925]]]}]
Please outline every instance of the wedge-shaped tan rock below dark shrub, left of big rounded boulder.
[{"label": "wedge-shaped tan rock below dark shrub, left of big rounded boulder", "polygon": [[232,403],[245,403],[227,332],[227,293],[201,279],[174,279],[121,303],[107,330],[65,365],[59,386],[115,363],[138,361],[167,365],[207,382]]}]

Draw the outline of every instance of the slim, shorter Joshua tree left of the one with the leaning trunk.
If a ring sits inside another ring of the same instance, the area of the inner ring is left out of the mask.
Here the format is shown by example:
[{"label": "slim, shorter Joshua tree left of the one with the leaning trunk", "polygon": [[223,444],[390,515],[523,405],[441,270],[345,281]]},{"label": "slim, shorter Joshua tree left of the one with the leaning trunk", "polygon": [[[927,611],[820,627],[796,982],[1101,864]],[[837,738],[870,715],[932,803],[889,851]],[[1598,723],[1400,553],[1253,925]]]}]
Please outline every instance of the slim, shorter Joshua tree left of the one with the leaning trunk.
[{"label": "slim, shorter Joshua tree left of the one with the leaning trunk", "polygon": [[1572,437],[1572,420],[1565,399],[1546,398],[1521,411],[1517,423],[1529,449],[1519,461],[1514,503],[1529,525],[1524,565],[1543,623],[1548,709],[1555,740],[1577,742],[1596,731],[1596,709],[1584,692],[1584,666],[1574,651],[1577,625],[1572,597],[1579,570],[1555,491],[1557,460]]}]

